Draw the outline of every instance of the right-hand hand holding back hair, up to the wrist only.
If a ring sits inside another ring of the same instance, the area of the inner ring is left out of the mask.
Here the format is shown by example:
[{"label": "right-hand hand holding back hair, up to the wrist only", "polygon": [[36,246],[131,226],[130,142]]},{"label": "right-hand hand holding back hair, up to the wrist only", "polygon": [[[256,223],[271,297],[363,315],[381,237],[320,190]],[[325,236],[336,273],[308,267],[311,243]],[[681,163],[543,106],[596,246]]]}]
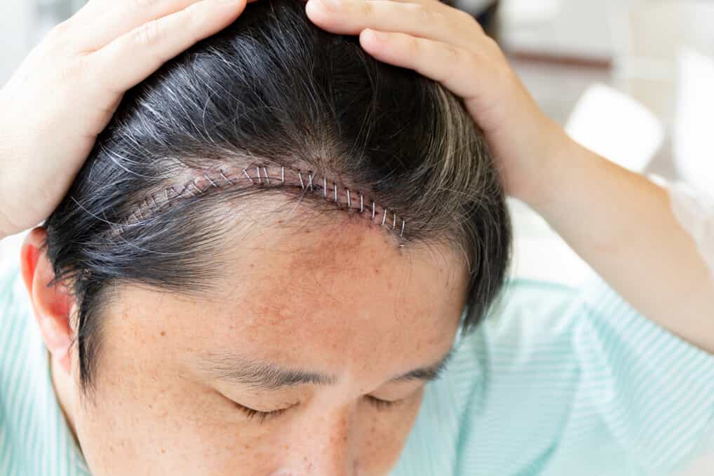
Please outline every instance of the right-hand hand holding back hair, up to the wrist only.
[{"label": "right-hand hand holding back hair, up to the wrist only", "polygon": [[376,59],[413,69],[461,96],[496,157],[506,191],[533,205],[545,201],[550,176],[559,169],[555,157],[562,155],[555,152],[573,143],[540,110],[473,16],[438,0],[333,1],[308,0],[306,14],[332,33],[359,35]]}]

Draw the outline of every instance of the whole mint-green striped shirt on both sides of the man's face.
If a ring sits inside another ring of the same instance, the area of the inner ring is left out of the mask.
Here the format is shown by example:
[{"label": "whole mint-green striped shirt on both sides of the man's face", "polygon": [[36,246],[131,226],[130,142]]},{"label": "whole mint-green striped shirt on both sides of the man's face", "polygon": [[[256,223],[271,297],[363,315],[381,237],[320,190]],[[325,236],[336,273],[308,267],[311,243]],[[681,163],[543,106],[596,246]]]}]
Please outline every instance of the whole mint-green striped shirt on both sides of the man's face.
[{"label": "whole mint-green striped shirt on both sides of the man's face", "polygon": [[[90,475],[16,267],[0,311],[0,475]],[[714,355],[596,276],[513,280],[455,345],[391,476],[671,475],[714,450]]]}]

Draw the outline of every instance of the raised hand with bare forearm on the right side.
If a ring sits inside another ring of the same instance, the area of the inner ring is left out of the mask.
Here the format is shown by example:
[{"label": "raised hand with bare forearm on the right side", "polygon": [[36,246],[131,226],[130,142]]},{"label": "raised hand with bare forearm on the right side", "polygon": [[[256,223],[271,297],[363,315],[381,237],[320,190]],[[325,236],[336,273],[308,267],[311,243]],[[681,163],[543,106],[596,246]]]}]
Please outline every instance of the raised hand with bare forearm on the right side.
[{"label": "raised hand with bare forearm on the right side", "polygon": [[714,281],[667,193],[570,140],[475,19],[438,0],[323,1],[308,0],[313,23],[359,35],[376,59],[461,96],[506,191],[540,213],[640,313],[714,354]]}]

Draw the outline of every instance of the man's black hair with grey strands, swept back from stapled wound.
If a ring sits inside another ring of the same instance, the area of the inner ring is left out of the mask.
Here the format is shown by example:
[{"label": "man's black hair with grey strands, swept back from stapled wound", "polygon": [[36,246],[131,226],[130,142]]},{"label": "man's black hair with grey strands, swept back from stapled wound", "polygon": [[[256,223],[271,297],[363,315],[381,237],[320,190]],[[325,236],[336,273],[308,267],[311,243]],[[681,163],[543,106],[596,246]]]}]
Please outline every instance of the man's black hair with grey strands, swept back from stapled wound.
[{"label": "man's black hair with grey strands, swept back from stapled wound", "polygon": [[[261,0],[126,93],[44,223],[53,282],[67,280],[76,300],[85,390],[116,285],[210,290],[221,275],[227,211],[248,197],[328,211],[321,194],[245,186],[186,193],[136,216],[158,192],[178,193],[208,169],[241,170],[256,160],[321,171],[369,193],[406,220],[405,250],[415,243],[458,250],[469,272],[464,331],[486,315],[506,277],[511,223],[493,158],[463,101],[374,59],[357,36],[314,25],[302,1]],[[130,216],[132,226],[116,226]]]}]

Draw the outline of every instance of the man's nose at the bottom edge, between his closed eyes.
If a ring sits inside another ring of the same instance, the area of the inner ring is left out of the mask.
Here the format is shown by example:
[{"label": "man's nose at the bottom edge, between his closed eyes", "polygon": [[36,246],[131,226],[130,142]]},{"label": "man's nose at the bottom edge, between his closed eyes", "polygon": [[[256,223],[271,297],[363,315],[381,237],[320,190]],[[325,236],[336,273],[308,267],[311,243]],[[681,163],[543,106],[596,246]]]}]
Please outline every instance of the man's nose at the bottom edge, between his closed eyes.
[{"label": "man's nose at the bottom edge, between his closed eyes", "polygon": [[329,414],[305,415],[293,427],[290,438],[295,451],[289,465],[270,476],[357,476],[356,428],[352,424],[354,408],[346,405]]}]

